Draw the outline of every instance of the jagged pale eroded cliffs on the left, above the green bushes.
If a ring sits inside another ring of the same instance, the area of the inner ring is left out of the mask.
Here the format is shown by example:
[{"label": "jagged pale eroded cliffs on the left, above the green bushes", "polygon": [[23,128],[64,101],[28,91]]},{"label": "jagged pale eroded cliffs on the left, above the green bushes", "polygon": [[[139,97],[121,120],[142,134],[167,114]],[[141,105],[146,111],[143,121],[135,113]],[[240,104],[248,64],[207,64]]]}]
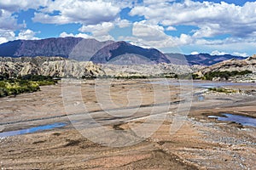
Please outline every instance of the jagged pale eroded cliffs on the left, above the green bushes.
[{"label": "jagged pale eroded cliffs on the left, above the green bushes", "polygon": [[61,57],[0,58],[1,75],[9,77],[44,75],[51,77],[96,77],[104,71],[90,61],[78,62]]}]

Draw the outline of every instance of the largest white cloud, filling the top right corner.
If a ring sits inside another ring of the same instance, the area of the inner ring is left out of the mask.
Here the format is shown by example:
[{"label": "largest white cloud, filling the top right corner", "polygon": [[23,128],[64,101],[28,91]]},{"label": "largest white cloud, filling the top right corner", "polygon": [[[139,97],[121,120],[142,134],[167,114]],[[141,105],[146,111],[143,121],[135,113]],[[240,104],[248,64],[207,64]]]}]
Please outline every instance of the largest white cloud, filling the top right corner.
[{"label": "largest white cloud, filling the top right corner", "polygon": [[198,26],[195,37],[230,34],[249,37],[256,31],[256,2],[244,6],[229,3],[193,2],[154,3],[131,9],[131,15],[144,16],[148,22],[164,26]]}]

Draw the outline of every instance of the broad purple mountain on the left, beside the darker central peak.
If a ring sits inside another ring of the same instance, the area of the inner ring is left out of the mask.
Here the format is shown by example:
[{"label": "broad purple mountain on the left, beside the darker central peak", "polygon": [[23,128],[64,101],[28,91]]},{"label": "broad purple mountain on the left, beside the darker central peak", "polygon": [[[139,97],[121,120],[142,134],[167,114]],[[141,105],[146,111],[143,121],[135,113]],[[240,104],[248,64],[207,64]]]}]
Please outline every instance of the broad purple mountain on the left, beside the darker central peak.
[{"label": "broad purple mountain on the left, beside the darker central peak", "polygon": [[61,56],[77,60],[89,60],[96,51],[109,43],[112,43],[112,41],[99,42],[95,39],[81,37],[15,40],[0,44],[0,56]]}]

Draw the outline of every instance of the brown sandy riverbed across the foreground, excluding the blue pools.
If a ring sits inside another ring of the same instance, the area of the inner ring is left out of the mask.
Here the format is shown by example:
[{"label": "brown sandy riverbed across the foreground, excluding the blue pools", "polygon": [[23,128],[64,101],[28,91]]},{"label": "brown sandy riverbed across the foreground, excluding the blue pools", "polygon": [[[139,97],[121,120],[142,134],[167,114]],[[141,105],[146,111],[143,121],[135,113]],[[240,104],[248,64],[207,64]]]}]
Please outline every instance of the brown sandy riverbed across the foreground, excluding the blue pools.
[{"label": "brown sandy riverbed across the foreground, excluding the blue pools", "polygon": [[188,85],[148,81],[67,82],[0,99],[0,132],[67,123],[1,138],[0,167],[256,169],[256,128],[207,117],[255,117],[256,96],[249,93],[254,85],[229,87],[244,94],[201,94],[204,88],[194,88],[187,115]]}]

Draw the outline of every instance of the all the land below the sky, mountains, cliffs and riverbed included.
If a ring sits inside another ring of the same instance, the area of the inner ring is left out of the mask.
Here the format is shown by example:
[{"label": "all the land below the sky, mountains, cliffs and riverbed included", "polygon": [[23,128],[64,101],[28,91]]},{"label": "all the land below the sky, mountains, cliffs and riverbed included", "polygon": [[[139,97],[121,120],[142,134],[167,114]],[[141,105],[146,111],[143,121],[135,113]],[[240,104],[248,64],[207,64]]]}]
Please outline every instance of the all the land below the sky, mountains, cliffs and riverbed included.
[{"label": "all the land below the sky, mountains, cliffs and riverbed included", "polygon": [[2,169],[255,169],[256,55],[0,44]]}]

